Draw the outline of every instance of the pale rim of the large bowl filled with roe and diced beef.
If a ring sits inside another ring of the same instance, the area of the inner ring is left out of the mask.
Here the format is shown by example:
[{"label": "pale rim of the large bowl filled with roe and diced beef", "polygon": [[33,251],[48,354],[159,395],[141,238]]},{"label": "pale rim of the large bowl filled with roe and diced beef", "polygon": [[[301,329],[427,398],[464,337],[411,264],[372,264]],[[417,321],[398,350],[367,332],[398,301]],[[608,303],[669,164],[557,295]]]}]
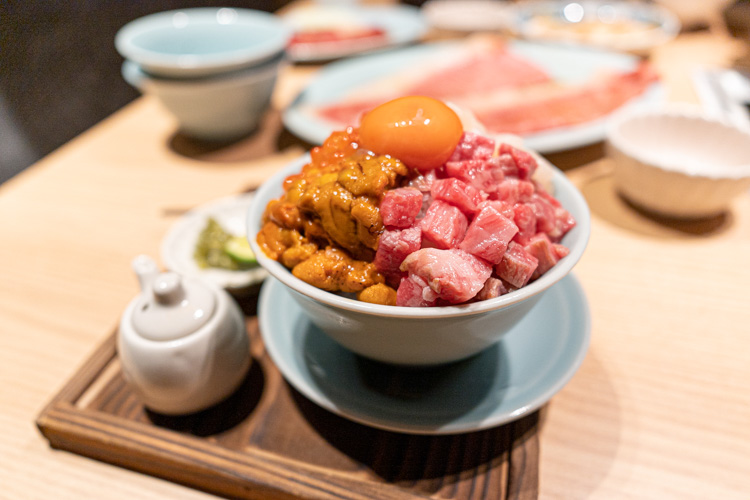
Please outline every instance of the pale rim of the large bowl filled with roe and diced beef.
[{"label": "pale rim of the large bowl filled with roe and diced beef", "polygon": [[[248,209],[247,216],[247,235],[250,242],[250,246],[256,254],[258,262],[263,266],[269,274],[284,283],[286,286],[291,288],[293,291],[305,295],[311,299],[317,300],[323,304],[331,307],[344,309],[347,311],[360,312],[365,314],[372,314],[374,316],[388,316],[397,318],[418,318],[418,319],[434,319],[434,318],[448,318],[455,316],[467,316],[471,314],[477,314],[481,312],[494,311],[497,309],[506,308],[513,306],[525,299],[528,299],[534,295],[544,292],[549,287],[560,281],[566,276],[578,261],[583,256],[583,252],[588,244],[589,235],[591,233],[591,214],[589,212],[588,204],[584,199],[583,195],[568,180],[565,174],[554,166],[550,166],[552,169],[552,182],[558,190],[564,187],[566,197],[569,198],[564,207],[575,214],[576,227],[571,230],[572,234],[576,234],[577,237],[571,238],[571,233],[568,233],[566,238],[563,238],[563,242],[569,242],[571,239],[572,244],[568,244],[570,253],[561,259],[552,269],[547,271],[536,281],[529,283],[523,288],[515,290],[506,295],[494,299],[483,300],[480,302],[473,302],[470,304],[445,306],[445,307],[401,307],[401,306],[386,306],[381,304],[370,304],[367,302],[361,302],[355,299],[342,297],[331,292],[326,292],[319,288],[314,287],[308,283],[305,283],[301,279],[295,277],[289,269],[284,267],[280,262],[277,262],[268,257],[258,245],[255,235],[260,230],[260,219],[263,212],[265,211],[265,204],[275,199],[282,194],[282,181],[289,175],[299,172],[303,165],[310,161],[310,155],[303,155],[301,158],[288,164],[286,167],[278,171],[273,177],[268,179],[255,193],[255,197]],[[273,195],[273,196],[271,196]],[[264,201],[265,200],[265,201]],[[575,231],[575,233],[573,233]]]}]

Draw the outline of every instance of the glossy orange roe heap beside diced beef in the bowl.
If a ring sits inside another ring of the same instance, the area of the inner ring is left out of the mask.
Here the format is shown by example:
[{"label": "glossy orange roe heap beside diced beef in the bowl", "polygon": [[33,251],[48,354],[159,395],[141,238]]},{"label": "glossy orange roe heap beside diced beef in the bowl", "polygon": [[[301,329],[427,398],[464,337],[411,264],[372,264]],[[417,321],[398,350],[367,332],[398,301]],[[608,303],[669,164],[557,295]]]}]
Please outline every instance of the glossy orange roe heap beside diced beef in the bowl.
[{"label": "glossy orange roe heap beside diced beef in the bowl", "polygon": [[[350,129],[315,148],[312,161],[284,181],[285,194],[266,206],[257,236],[269,257],[328,291],[356,293],[385,282],[372,263],[385,229],[378,206],[409,174],[401,161],[358,150],[354,141]],[[385,292],[371,295],[390,301]]]}]

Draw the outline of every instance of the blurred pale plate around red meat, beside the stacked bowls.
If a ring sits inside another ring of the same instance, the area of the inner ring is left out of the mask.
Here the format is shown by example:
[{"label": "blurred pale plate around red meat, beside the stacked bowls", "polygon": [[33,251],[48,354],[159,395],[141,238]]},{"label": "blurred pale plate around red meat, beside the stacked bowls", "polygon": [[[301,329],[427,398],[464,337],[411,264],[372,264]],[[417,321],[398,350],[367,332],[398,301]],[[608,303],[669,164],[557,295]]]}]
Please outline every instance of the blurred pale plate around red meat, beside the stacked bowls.
[{"label": "blurred pale plate around red meat, beside the stacked bowls", "polygon": [[289,59],[315,62],[337,59],[362,52],[380,50],[414,42],[427,30],[419,9],[407,5],[307,5],[285,14],[282,19],[296,31],[304,27],[335,29],[337,25],[380,28],[385,32],[380,41],[348,40],[343,42],[311,43],[291,46]]}]

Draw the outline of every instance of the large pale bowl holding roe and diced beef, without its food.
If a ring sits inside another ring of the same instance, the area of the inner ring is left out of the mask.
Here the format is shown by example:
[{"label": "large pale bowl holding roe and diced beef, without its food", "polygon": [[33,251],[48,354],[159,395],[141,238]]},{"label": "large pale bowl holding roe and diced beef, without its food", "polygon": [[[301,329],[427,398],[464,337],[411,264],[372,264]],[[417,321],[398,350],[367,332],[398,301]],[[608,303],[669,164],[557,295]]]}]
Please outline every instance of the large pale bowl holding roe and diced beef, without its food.
[{"label": "large pale bowl holding roe and diced beef, without its food", "polygon": [[564,238],[570,254],[533,283],[501,297],[449,307],[398,307],[368,304],[325,292],[296,278],[267,257],[255,241],[267,203],[283,193],[283,179],[299,172],[303,157],[269,179],[256,192],[247,217],[247,234],[258,261],[292,296],[323,332],[362,356],[401,365],[433,365],[457,361],[491,346],[539,301],[542,294],[567,275],[583,255],[590,232],[588,205],[557,169],[555,196],[577,220]]}]

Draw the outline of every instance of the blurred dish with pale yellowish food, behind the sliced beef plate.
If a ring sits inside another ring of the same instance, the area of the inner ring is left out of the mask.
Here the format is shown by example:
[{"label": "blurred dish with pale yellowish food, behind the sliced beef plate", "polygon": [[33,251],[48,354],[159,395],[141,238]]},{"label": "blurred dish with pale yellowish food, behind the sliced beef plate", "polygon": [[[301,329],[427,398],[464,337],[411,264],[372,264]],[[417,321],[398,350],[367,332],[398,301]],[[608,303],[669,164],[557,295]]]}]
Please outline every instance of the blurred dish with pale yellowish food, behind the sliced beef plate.
[{"label": "blurred dish with pale yellowish food, behind the sliced beef plate", "polygon": [[532,0],[513,6],[511,25],[529,40],[595,45],[646,53],[674,39],[680,20],[668,9],[645,2]]}]

